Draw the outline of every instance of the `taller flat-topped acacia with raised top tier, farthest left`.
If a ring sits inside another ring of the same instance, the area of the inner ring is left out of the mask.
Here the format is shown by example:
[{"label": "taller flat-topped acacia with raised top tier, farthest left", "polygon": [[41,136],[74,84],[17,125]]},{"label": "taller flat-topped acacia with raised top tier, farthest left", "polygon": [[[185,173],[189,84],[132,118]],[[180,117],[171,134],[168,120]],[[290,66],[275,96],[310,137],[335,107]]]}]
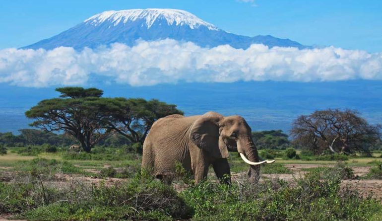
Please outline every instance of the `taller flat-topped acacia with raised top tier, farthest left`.
[{"label": "taller flat-topped acacia with raised top tier, farthest left", "polygon": [[42,100],[25,112],[34,119],[31,126],[47,132],[64,131],[73,136],[83,148],[90,152],[97,142],[110,131],[104,129],[105,117],[99,109],[103,91],[82,87],[56,88],[60,98]]}]

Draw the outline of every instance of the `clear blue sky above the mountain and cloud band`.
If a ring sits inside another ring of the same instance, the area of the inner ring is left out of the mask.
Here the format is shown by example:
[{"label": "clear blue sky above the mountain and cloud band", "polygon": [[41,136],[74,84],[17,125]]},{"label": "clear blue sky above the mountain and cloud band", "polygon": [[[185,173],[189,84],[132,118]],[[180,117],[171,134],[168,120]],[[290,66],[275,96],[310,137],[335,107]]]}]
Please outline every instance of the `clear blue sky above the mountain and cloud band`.
[{"label": "clear blue sky above the mountain and cloud band", "polygon": [[11,0],[0,7],[0,49],[51,37],[105,10],[155,7],[190,11],[235,34],[382,51],[381,0]]}]

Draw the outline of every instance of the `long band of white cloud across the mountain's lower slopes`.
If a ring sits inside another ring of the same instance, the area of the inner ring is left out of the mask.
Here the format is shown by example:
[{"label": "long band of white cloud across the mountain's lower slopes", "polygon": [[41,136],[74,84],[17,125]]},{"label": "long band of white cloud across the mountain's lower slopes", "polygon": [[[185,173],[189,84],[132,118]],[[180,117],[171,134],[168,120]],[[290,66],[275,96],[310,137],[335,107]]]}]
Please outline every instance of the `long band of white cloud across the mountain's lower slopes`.
[{"label": "long band of white cloud across the mountain's lower slopes", "polygon": [[268,48],[253,44],[202,48],[166,39],[139,41],[133,47],[54,50],[0,50],[0,82],[19,86],[84,85],[91,77],[135,86],[158,83],[239,80],[336,81],[382,79],[382,53],[344,50]]}]

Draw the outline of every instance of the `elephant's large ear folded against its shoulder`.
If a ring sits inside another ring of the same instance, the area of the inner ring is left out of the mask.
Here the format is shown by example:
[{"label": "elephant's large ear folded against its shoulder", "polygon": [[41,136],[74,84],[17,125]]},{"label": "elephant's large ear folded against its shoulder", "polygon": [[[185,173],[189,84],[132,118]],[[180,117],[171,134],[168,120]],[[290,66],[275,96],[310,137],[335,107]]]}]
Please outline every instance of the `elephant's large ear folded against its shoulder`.
[{"label": "elephant's large ear folded against its shoulder", "polygon": [[207,112],[192,124],[190,132],[191,141],[216,158],[229,156],[228,148],[219,133],[219,122],[222,118],[218,113]]}]

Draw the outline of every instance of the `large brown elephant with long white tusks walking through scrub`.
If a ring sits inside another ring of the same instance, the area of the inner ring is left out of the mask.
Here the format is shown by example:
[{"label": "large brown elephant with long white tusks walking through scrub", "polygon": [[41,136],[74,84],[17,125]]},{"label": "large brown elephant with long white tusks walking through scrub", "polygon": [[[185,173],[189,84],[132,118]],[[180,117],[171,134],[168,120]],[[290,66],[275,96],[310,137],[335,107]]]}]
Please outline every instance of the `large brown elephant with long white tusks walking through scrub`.
[{"label": "large brown elephant with long white tusks walking through scrub", "polygon": [[251,128],[243,117],[207,112],[190,117],[174,114],[157,120],[143,144],[142,168],[171,182],[175,163],[180,162],[198,183],[207,177],[212,164],[219,180],[231,183],[228,151],[239,152],[250,164],[248,176],[254,182],[259,178],[259,165],[274,162],[259,162]]}]

